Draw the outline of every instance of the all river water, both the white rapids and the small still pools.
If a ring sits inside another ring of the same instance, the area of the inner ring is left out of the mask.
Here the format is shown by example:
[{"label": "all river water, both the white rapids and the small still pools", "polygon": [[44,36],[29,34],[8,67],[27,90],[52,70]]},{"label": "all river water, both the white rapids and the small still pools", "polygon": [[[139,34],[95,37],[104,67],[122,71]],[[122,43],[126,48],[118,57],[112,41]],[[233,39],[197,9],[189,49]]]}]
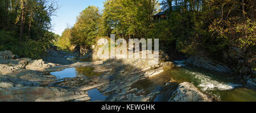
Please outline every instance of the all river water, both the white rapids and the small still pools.
[{"label": "all river water, both the white rapids and the small still pools", "polygon": [[[76,59],[79,61],[91,61],[90,59]],[[170,79],[175,79],[178,83],[191,82],[198,87],[203,93],[212,95],[217,101],[228,102],[255,102],[256,91],[243,87],[239,78],[234,77],[231,74],[212,72],[202,68],[195,68],[193,66],[186,66],[184,61],[175,61],[176,69],[170,69],[165,71],[156,77],[144,79],[135,83],[133,86],[138,89],[144,89],[147,93],[160,91],[155,98],[155,102],[168,101],[171,98],[170,91],[164,89],[165,83]],[[73,77],[93,77],[99,76],[100,73],[93,72],[93,68],[90,67],[77,67],[67,68],[59,72],[51,72],[52,75],[58,79],[73,78]],[[174,88],[174,87],[172,87]],[[88,91],[91,101],[104,101],[106,95],[101,94],[97,89]]]}]

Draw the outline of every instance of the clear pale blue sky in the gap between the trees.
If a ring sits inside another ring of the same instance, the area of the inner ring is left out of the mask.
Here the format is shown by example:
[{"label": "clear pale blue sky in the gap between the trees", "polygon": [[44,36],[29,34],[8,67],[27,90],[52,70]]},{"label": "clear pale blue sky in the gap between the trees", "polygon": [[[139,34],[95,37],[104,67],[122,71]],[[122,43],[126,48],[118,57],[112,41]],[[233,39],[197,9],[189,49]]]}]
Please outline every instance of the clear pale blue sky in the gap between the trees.
[{"label": "clear pale blue sky in the gap between the trees", "polygon": [[[88,6],[97,6],[104,9],[105,0],[57,0],[60,7],[56,15],[52,17],[52,25],[55,34],[61,35],[65,28],[76,23],[76,17]],[[162,1],[162,0],[160,0]]]}]

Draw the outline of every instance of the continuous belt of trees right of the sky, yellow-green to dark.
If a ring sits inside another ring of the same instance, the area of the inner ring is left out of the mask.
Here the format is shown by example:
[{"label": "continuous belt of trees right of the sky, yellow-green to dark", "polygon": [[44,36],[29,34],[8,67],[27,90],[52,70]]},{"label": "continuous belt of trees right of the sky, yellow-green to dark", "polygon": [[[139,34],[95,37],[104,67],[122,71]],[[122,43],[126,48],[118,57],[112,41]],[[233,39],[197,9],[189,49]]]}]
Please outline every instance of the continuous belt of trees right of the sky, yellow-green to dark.
[{"label": "continuous belt of trees right of the sky, yellow-green to dark", "polygon": [[[164,11],[168,19],[154,15]],[[159,39],[169,54],[218,56],[229,46],[255,50],[255,1],[107,0],[104,10],[89,6],[67,28],[57,45],[90,47],[96,37]],[[175,58],[175,56],[174,56]]]}]

